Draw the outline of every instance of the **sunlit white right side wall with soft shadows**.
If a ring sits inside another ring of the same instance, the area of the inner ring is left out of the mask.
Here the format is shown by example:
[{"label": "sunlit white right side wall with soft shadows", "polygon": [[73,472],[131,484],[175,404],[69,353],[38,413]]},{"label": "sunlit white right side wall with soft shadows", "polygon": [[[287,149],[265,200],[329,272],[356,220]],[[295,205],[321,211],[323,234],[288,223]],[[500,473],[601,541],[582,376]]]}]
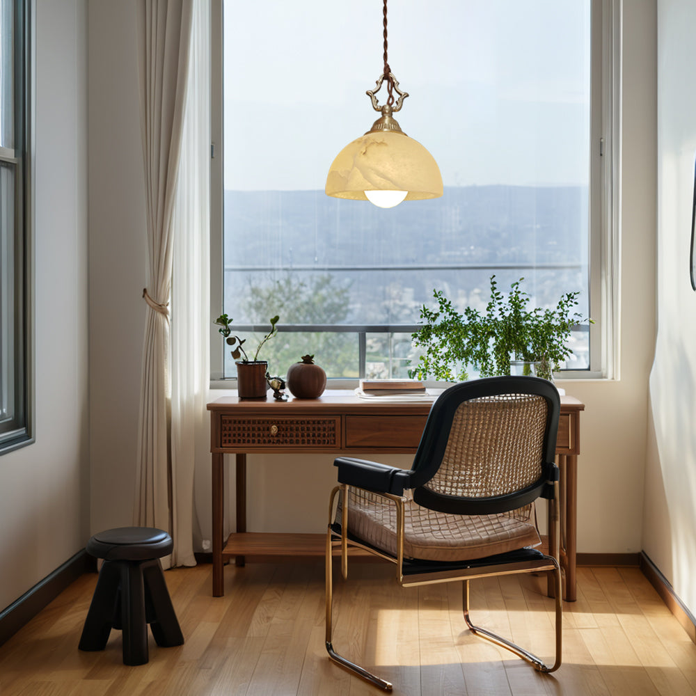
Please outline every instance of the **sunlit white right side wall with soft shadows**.
[{"label": "sunlit white right side wall with soft shadows", "polygon": [[658,0],[658,335],[643,548],[696,614],[695,33],[693,0]]}]

